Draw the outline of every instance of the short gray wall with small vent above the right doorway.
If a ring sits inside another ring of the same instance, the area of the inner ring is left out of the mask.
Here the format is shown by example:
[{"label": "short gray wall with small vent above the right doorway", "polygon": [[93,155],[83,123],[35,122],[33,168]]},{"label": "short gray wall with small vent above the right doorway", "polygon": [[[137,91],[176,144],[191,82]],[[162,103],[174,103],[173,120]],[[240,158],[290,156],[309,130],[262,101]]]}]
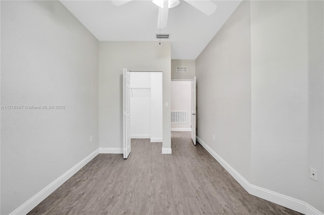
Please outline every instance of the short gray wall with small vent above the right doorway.
[{"label": "short gray wall with small vent above the right doorway", "polygon": [[[177,73],[177,66],[187,66],[187,73]],[[172,79],[193,79],[196,75],[196,64],[195,60],[171,60],[171,78]]]}]

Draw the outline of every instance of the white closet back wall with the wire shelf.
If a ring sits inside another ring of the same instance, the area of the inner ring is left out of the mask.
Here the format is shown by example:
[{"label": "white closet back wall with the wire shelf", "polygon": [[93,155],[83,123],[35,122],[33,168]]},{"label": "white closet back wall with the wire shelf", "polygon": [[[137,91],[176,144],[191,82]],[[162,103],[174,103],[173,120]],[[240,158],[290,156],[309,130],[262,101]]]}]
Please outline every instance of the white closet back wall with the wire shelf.
[{"label": "white closet back wall with the wire shelf", "polygon": [[[131,88],[151,88],[151,74],[131,73]],[[131,91],[131,138],[151,138],[151,90]]]}]

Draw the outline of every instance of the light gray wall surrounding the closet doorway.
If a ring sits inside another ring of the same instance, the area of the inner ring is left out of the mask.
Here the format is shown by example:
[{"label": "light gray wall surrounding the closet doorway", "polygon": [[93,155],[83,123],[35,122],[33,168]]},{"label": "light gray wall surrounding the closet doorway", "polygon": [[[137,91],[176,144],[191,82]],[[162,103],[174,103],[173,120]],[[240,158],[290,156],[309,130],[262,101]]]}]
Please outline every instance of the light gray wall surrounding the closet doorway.
[{"label": "light gray wall surrounding the closet doorway", "polygon": [[123,68],[163,71],[163,148],[171,148],[171,44],[99,43],[99,139],[101,148],[123,148]]}]

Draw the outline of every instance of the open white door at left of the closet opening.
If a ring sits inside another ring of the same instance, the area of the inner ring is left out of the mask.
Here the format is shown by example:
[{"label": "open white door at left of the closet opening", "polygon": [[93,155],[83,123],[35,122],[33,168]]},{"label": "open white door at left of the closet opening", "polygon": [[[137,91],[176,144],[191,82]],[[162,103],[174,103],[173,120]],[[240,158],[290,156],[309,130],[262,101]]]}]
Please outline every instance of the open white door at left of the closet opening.
[{"label": "open white door at left of the closet opening", "polygon": [[131,93],[131,74],[124,68],[123,81],[123,124],[124,124],[124,159],[127,159],[131,153],[131,107],[130,107],[130,93]]}]

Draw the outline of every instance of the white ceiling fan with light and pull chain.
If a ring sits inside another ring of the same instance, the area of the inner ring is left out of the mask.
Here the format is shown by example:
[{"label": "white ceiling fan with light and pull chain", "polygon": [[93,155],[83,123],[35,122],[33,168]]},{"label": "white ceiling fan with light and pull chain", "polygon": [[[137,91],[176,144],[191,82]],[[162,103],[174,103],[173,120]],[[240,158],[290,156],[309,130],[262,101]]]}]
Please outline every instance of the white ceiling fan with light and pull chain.
[{"label": "white ceiling fan with light and pull chain", "polygon": [[[112,4],[115,6],[124,5],[133,0],[111,0]],[[210,0],[184,0],[189,5],[195,7],[204,14],[210,16],[213,14],[217,6]],[[168,23],[169,9],[174,8],[180,4],[179,0],[153,0],[155,5],[159,6],[158,16],[157,16],[157,28],[165,28]]]}]

